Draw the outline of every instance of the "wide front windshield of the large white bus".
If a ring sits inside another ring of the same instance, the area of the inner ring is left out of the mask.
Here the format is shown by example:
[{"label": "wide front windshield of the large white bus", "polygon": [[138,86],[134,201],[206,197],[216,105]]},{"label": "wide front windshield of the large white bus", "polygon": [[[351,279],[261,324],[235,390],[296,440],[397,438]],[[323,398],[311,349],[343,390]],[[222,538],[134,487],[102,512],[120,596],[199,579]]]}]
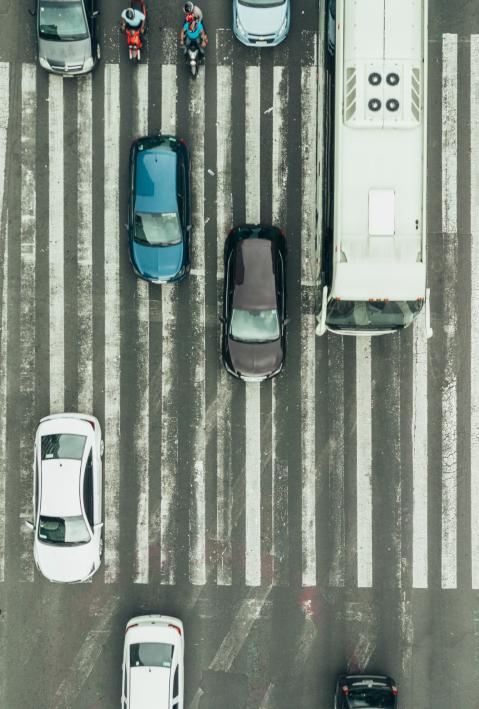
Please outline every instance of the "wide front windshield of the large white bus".
[{"label": "wide front windshield of the large white bus", "polygon": [[424,300],[352,301],[328,303],[326,322],[333,329],[396,330],[407,327],[421,311]]}]

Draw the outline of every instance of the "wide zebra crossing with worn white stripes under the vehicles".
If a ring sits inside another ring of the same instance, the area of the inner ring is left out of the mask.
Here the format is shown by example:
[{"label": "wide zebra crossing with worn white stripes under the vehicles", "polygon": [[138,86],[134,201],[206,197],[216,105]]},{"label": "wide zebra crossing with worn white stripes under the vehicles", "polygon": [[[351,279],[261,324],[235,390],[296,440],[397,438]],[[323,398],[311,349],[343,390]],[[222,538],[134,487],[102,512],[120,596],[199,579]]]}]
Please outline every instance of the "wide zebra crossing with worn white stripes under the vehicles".
[{"label": "wide zebra crossing with worn white stripes under the vehicles", "polygon": [[[75,90],[34,65],[0,65],[0,581],[36,578],[23,524],[34,431],[40,416],[72,407],[98,415],[105,438],[104,564],[93,583],[454,589],[467,575],[477,589],[479,37],[470,381],[457,341],[457,36],[443,38],[442,121],[431,118],[446,287],[441,303],[432,292],[429,342],[422,322],[400,337],[316,338],[318,54],[298,69],[217,59],[213,100],[209,67],[193,87],[183,67],[164,64],[153,100],[148,64],[128,79],[105,64]],[[192,270],[177,288],[136,280],[126,253],[128,148],[157,127],[186,132],[191,149]],[[234,223],[260,220],[286,230],[291,322],[284,374],[245,387],[219,359],[223,244]],[[439,263],[431,239],[429,258]],[[466,384],[469,397],[458,393]],[[459,469],[466,420],[470,470]]]}]

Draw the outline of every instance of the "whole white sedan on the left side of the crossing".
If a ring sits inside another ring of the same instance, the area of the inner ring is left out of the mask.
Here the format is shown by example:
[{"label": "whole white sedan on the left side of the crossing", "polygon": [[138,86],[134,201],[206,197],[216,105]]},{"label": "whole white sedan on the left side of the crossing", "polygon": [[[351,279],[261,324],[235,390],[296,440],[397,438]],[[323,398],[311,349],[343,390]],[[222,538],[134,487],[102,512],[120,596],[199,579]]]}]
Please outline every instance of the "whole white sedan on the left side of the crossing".
[{"label": "whole white sedan on the left side of the crossing", "polygon": [[102,554],[101,428],[94,416],[56,414],[40,421],[33,464],[35,563],[50,581],[78,583]]}]

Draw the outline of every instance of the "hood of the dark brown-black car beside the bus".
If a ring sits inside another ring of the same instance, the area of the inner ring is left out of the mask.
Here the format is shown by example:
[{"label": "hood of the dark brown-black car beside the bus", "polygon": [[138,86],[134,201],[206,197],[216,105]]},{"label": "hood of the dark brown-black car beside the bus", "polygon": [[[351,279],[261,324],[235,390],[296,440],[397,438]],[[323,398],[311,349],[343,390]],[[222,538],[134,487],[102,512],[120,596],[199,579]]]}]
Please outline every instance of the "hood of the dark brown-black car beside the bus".
[{"label": "hood of the dark brown-black car beside the bus", "polygon": [[268,377],[283,361],[281,338],[273,342],[238,342],[228,338],[231,369],[243,377]]}]

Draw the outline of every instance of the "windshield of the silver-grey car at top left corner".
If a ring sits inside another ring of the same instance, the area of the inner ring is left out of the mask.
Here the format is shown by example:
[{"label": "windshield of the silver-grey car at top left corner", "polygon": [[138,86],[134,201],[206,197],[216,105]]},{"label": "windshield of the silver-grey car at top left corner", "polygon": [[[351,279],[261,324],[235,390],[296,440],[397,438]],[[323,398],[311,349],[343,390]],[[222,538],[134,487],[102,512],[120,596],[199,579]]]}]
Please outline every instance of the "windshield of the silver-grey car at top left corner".
[{"label": "windshield of the silver-grey car at top left corner", "polygon": [[42,39],[78,40],[88,38],[83,3],[41,0],[38,20]]}]

